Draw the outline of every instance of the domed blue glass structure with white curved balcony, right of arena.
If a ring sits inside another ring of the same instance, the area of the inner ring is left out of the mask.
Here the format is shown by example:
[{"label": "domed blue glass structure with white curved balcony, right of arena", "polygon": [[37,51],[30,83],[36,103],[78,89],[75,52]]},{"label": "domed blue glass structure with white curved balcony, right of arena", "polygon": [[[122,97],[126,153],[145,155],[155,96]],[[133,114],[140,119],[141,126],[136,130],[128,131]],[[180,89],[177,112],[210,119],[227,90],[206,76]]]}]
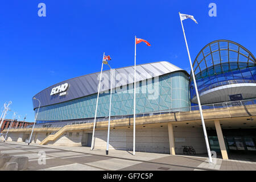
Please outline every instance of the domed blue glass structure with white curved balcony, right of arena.
[{"label": "domed blue glass structure with white curved balcony, right of arena", "polygon": [[[242,98],[255,98],[254,94],[236,92],[218,92],[214,96],[209,97],[210,92],[218,89],[226,89],[227,85],[240,84],[240,86],[249,86],[241,84],[256,84],[256,59],[253,54],[236,42],[230,40],[216,40],[207,44],[193,62],[193,70],[195,72],[197,88],[200,98],[203,98],[203,104],[209,102],[230,101],[230,95],[241,94]],[[232,85],[234,87],[237,85]],[[253,85],[250,85],[253,86]],[[220,88],[222,87],[222,88]],[[218,88],[218,89],[216,89]],[[223,90],[222,90],[223,91]],[[252,92],[253,90],[251,90]],[[242,92],[242,91],[241,91]],[[255,92],[256,93],[256,92]],[[225,98],[222,94],[226,94]],[[213,98],[214,97],[214,98]],[[218,97],[218,98],[217,98]],[[195,87],[191,75],[191,100],[197,103]]]}]

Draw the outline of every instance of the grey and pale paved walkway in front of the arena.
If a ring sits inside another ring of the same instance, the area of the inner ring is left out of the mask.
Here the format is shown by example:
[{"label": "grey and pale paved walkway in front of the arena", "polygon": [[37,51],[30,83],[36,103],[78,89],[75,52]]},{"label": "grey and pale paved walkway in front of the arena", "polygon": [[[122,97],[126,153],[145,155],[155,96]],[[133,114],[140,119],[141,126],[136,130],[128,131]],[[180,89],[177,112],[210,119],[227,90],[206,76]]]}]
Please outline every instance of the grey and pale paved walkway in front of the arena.
[{"label": "grey and pale paved walkway in front of the arena", "polygon": [[[28,170],[122,170],[122,171],[174,171],[174,170],[253,170],[255,162],[238,160],[214,159],[214,164],[208,163],[208,158],[196,156],[154,154],[130,151],[90,150],[90,147],[40,146],[22,142],[0,142],[0,153],[14,156],[28,156]],[[43,163],[42,154],[46,163]]]}]

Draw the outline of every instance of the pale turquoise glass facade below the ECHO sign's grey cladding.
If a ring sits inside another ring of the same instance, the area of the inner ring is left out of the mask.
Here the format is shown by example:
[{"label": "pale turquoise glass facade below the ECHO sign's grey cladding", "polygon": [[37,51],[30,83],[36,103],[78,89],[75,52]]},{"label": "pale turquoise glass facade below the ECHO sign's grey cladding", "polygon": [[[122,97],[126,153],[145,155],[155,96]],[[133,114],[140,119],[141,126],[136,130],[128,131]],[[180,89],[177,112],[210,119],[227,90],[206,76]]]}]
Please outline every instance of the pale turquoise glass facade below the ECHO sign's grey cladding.
[{"label": "pale turquoise glass facade below the ECHO sign's grey cladding", "polygon": [[[189,80],[184,72],[172,72],[158,79],[140,81],[137,86],[136,113],[147,113],[191,106]],[[133,114],[134,84],[113,89],[111,115]],[[110,92],[101,93],[97,117],[108,117]],[[81,97],[60,104],[40,107],[38,122],[94,118],[97,94]],[[189,108],[185,108],[188,110]],[[35,113],[38,109],[35,110]],[[180,109],[180,111],[184,111]]]}]

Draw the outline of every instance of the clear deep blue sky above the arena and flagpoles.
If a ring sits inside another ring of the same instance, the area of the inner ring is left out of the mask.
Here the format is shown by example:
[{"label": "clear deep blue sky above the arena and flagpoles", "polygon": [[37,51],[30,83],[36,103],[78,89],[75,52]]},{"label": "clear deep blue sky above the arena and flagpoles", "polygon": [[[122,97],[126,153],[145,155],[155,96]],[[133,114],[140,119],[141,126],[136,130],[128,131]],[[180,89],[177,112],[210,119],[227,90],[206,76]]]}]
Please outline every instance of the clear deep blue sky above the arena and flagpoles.
[{"label": "clear deep blue sky above the arena and flagpoles", "polygon": [[[38,4],[46,4],[46,17]],[[209,3],[217,17],[210,17]],[[192,61],[209,42],[229,39],[256,54],[256,2],[251,1],[97,1],[30,0],[0,2],[0,104],[13,101],[20,119],[34,121],[32,97],[69,78],[98,72],[103,52],[113,68],[169,61],[189,71],[178,12],[194,15],[199,24],[184,20]],[[2,111],[2,110],[1,110]],[[11,112],[6,118],[12,117]]]}]

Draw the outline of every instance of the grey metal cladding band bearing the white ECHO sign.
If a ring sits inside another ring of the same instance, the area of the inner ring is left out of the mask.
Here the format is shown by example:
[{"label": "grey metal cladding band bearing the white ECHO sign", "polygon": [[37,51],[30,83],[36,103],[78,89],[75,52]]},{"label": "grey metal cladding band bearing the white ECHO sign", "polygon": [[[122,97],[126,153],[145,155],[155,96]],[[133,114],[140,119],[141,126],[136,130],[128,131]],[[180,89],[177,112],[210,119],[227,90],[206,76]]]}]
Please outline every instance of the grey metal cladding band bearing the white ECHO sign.
[{"label": "grey metal cladding band bearing the white ECHO sign", "polygon": [[[175,72],[175,71],[184,71],[183,69],[176,67],[175,65],[167,62],[161,61],[156,63],[148,63],[148,64],[141,64],[136,66],[137,72],[137,79],[136,81],[146,80],[148,78],[165,75],[167,73]],[[102,78],[110,78],[110,71],[102,72]],[[117,79],[114,79],[113,85],[121,86],[127,84],[133,84],[134,82],[134,66],[125,67],[125,68],[118,68],[115,69],[114,76],[117,74],[122,73],[122,82]],[[150,73],[150,74],[148,74]],[[113,76],[113,78],[114,78]],[[58,104],[60,102],[65,102],[69,100],[73,100],[80,97],[85,97],[90,94],[95,94],[98,92],[98,77],[100,77],[100,72],[92,73],[89,75],[84,75],[76,78],[71,78],[66,81],[59,82],[58,84],[49,86],[48,88],[42,90],[34,97],[38,98],[41,102],[41,106],[48,106],[53,104]],[[67,94],[64,96],[60,96],[59,94],[50,95],[52,88],[59,86],[61,84],[68,83]],[[109,90],[110,89],[110,79],[105,84],[104,88],[100,91]],[[34,109],[39,107],[39,102],[37,100],[32,100]]]}]

